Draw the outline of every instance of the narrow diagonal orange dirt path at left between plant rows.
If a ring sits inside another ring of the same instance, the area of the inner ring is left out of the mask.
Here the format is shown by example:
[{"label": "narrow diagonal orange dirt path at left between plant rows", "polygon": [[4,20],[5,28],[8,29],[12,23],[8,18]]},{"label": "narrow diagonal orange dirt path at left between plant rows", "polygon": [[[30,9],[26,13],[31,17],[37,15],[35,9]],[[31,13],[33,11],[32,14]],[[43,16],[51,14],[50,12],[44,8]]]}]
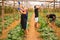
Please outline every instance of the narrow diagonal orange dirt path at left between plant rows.
[{"label": "narrow diagonal orange dirt path at left between plant rows", "polygon": [[12,24],[10,24],[10,26],[7,27],[7,29],[3,30],[3,34],[2,34],[2,36],[0,38],[5,39],[7,37],[8,32],[11,29],[14,29],[16,27],[16,25],[18,25],[19,23],[20,23],[20,20],[15,20]]}]

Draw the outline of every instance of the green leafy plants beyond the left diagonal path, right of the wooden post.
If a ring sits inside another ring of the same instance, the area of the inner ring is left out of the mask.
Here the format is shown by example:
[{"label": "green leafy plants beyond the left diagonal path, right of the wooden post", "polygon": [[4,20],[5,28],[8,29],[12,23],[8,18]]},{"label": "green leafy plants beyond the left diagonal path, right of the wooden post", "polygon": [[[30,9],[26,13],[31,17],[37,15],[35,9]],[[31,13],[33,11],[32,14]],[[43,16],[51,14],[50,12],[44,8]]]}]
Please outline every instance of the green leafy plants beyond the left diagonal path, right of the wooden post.
[{"label": "green leafy plants beyond the left diagonal path, right of the wooden post", "polygon": [[4,22],[4,28],[6,29],[12,22],[14,22],[14,20],[18,20],[18,19],[19,19],[19,14],[5,16],[4,17],[4,20],[5,20],[5,22]]}]

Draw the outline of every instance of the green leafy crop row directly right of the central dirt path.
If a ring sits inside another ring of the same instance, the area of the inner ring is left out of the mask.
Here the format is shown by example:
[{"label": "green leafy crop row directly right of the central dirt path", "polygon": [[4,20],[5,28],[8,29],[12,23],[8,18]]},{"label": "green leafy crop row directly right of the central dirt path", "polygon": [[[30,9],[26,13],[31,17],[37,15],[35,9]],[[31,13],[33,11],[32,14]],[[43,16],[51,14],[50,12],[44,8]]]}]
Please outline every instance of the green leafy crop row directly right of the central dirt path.
[{"label": "green leafy crop row directly right of the central dirt path", "polygon": [[40,37],[43,40],[58,40],[54,30],[48,26],[46,21],[40,16],[39,22],[41,24],[38,32],[40,32]]}]

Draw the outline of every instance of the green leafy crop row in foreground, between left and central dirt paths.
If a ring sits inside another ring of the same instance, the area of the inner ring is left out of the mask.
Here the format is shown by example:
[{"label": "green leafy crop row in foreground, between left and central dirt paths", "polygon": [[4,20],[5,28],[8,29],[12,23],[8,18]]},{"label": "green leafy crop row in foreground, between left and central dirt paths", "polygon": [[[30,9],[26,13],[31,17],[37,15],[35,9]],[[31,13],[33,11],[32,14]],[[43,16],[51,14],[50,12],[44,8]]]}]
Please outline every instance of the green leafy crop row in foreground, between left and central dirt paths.
[{"label": "green leafy crop row in foreground, between left and central dirt paths", "polygon": [[17,25],[16,28],[12,29],[8,33],[6,40],[23,40],[24,31],[21,29],[20,25]]}]

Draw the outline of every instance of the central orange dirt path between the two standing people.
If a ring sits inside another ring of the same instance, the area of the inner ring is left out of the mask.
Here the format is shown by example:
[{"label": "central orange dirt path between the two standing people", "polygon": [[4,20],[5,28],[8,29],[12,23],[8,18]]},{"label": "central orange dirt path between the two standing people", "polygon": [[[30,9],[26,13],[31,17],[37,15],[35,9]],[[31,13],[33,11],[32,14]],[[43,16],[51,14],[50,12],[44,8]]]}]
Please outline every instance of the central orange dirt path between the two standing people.
[{"label": "central orange dirt path between the two standing people", "polygon": [[34,14],[32,15],[30,22],[29,22],[29,32],[27,33],[26,40],[41,40],[39,37],[39,33],[35,30],[35,21],[34,21]]}]

